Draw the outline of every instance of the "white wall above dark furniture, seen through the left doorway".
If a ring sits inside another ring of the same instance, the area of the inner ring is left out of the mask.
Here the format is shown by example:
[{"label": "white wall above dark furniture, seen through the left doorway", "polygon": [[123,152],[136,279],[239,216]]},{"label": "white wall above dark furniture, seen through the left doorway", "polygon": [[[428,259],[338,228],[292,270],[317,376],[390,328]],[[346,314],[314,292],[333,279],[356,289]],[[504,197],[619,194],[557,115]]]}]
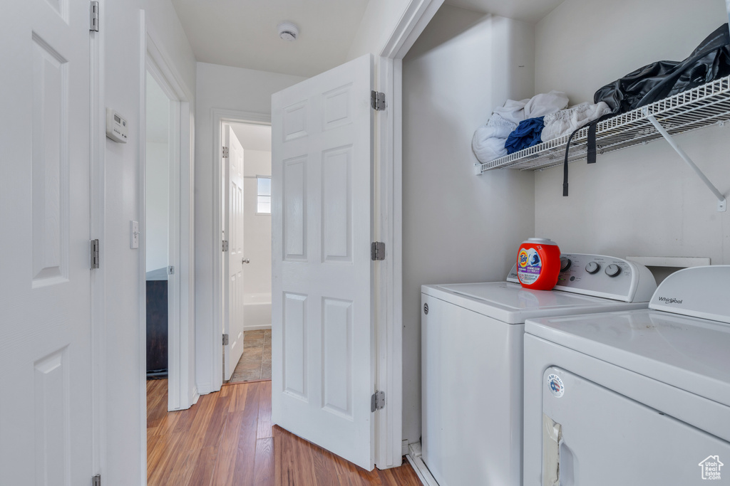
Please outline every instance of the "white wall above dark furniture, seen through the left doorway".
[{"label": "white wall above dark furniture, seen through the left doorway", "polygon": [[147,142],[145,152],[147,165],[145,240],[147,272],[167,266],[169,227],[169,154],[167,144]]}]

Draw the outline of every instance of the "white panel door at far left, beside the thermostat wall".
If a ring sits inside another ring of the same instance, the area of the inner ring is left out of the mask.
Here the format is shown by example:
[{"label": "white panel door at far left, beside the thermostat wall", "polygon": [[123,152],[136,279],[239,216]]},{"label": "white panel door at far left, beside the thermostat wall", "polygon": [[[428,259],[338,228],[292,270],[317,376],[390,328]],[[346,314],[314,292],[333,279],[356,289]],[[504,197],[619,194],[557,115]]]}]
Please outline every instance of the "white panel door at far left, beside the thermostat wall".
[{"label": "white panel door at far left, beside the thermostat wall", "polygon": [[0,483],[88,485],[89,2],[0,26]]}]

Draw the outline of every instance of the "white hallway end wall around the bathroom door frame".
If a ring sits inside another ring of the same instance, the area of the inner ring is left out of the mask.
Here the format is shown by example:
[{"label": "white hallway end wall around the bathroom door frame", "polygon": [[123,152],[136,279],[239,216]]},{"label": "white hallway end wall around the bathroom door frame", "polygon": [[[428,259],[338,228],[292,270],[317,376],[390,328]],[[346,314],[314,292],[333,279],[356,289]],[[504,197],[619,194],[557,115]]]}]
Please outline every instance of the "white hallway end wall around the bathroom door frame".
[{"label": "white hallway end wall around the bathroom door frame", "polygon": [[[195,246],[196,246],[196,376],[201,393],[212,391],[213,257],[218,235],[213,234],[212,109],[271,113],[271,95],[304,78],[252,69],[198,63],[196,95]],[[218,141],[215,142],[218,144]],[[221,330],[221,334],[223,331]]]}]

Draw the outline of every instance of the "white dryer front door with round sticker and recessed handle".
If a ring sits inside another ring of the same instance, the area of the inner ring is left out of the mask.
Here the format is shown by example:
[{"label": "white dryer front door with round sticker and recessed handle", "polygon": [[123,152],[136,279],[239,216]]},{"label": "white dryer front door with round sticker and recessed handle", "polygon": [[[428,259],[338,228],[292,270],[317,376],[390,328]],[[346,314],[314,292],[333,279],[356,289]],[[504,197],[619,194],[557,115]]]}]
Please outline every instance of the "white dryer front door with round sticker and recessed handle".
[{"label": "white dryer front door with round sticker and recessed handle", "polygon": [[543,485],[730,485],[729,442],[564,369],[542,411]]}]

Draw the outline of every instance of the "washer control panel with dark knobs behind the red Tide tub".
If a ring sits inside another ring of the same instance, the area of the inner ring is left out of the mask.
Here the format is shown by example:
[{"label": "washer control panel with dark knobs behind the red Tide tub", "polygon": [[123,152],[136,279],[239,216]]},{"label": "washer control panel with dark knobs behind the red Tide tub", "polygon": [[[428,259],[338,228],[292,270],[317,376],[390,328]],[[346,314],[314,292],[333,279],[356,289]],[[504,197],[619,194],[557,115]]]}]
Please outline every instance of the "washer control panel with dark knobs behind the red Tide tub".
[{"label": "washer control panel with dark knobs behind the red Tide tub", "polygon": [[[560,275],[553,290],[624,302],[648,302],[656,281],[647,267],[615,256],[561,254]],[[512,267],[508,282],[519,283]]]}]

